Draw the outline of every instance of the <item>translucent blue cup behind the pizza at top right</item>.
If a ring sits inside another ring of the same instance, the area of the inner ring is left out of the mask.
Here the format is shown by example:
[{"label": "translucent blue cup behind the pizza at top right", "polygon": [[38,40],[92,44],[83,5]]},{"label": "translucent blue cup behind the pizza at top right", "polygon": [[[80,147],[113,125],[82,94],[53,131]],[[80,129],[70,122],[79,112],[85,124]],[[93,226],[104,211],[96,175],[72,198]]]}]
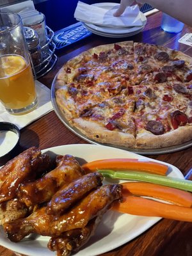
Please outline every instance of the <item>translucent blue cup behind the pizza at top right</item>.
[{"label": "translucent blue cup behind the pizza at top right", "polygon": [[182,31],[184,23],[179,20],[174,19],[173,17],[163,13],[161,28],[168,33],[179,33]]}]

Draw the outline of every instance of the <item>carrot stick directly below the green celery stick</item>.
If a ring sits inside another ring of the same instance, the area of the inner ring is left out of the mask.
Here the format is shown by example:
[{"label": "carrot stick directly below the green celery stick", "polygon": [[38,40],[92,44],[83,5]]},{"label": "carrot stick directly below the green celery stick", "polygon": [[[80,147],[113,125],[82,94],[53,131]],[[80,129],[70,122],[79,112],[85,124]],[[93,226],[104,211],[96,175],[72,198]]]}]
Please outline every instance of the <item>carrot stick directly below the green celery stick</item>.
[{"label": "carrot stick directly below the green celery stick", "polygon": [[192,193],[180,189],[169,188],[148,182],[125,182],[122,183],[122,185],[123,195],[126,195],[127,192],[131,192],[133,195],[151,196],[184,207],[190,208],[192,206]]}]

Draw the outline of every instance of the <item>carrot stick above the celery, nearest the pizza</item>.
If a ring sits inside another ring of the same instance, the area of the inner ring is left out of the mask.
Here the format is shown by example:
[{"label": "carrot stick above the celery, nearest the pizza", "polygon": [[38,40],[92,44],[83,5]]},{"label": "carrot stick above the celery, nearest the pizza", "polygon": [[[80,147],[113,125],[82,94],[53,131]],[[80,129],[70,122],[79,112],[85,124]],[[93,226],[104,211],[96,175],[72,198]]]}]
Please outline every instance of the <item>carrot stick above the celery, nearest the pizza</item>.
[{"label": "carrot stick above the celery, nearest the pizza", "polygon": [[166,175],[168,166],[166,164],[148,161],[145,159],[102,159],[83,164],[83,169],[88,172],[95,172],[99,169],[112,169],[112,170],[138,170],[140,172],[156,173]]}]

